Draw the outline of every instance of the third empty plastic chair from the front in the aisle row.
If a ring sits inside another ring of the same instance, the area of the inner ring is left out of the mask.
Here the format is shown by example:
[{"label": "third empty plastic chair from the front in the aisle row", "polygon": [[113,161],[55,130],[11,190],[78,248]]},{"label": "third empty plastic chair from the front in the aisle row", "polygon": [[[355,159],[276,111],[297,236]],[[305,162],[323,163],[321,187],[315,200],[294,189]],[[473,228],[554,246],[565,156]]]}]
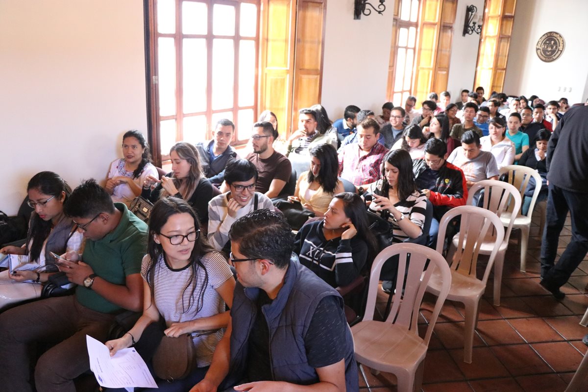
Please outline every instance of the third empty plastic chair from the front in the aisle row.
[{"label": "third empty plastic chair from the front in the aisle row", "polygon": [[[472,205],[476,193],[484,191],[482,208],[495,213],[502,222],[507,220],[506,233],[502,236],[502,243],[498,249],[494,266],[494,304],[500,306],[500,286],[502,285],[502,270],[505,264],[506,248],[509,247],[510,230],[512,230],[515,218],[519,215],[521,198],[520,193],[513,185],[503,181],[483,180],[475,183],[469,190],[467,205]],[[466,233],[467,235],[467,233]],[[456,245],[457,236],[453,237]],[[496,233],[492,230],[486,234],[484,242],[480,247],[480,254],[490,254],[495,247]]]}]

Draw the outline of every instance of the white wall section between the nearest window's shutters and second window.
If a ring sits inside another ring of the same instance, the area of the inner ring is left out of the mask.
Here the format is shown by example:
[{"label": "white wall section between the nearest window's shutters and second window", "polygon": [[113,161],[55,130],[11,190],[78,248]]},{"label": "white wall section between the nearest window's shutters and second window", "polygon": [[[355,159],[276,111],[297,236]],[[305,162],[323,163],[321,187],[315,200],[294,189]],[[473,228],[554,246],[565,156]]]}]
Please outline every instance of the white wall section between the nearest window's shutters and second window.
[{"label": "white wall section between the nearest window's shutters and second window", "polygon": [[392,1],[386,2],[383,15],[372,11],[358,21],[353,20],[353,3],[333,0],[327,4],[321,103],[332,120],[341,118],[347,105],[380,114],[386,102]]}]

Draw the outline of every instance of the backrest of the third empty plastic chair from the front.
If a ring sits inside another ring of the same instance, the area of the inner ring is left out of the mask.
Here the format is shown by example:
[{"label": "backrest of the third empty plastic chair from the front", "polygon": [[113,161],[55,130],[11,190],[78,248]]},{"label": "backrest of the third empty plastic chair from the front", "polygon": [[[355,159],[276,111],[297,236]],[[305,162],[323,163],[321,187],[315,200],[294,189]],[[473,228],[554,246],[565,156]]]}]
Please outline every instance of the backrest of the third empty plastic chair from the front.
[{"label": "backrest of the third empty plastic chair from the front", "polygon": [[513,228],[516,217],[519,215],[521,196],[519,190],[515,186],[507,182],[497,180],[482,180],[476,182],[469,190],[467,195],[467,205],[471,206],[474,202],[475,195],[481,190],[484,191],[482,208],[490,210],[500,217],[503,212],[512,212],[510,215],[510,223],[506,229],[506,236],[502,239],[508,241],[510,237],[510,230]]}]

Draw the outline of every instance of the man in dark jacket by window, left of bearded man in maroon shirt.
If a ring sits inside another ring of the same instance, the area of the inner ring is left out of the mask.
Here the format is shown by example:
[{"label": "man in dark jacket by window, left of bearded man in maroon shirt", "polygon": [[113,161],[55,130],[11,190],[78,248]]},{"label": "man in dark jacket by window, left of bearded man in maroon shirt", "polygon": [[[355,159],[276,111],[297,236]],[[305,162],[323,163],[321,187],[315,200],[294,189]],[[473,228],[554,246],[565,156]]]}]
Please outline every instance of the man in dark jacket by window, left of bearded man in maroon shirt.
[{"label": "man in dark jacket by window, left of bearded man in maroon shirt", "polygon": [[235,124],[229,119],[220,119],[213,132],[214,139],[210,142],[196,143],[202,172],[216,187],[225,179],[226,165],[238,158],[237,152],[230,146],[234,134]]}]

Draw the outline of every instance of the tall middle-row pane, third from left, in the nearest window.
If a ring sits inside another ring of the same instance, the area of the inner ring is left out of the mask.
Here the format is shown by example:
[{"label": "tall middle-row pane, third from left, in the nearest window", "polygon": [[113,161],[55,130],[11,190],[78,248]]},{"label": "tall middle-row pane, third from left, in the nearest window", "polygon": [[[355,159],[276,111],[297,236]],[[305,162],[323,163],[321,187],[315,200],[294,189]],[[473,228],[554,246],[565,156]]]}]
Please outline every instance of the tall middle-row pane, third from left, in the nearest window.
[{"label": "tall middle-row pane, third from left, in the nearest window", "polygon": [[[216,6],[216,5],[215,5]],[[233,107],[235,49],[232,39],[212,41],[212,110]]]}]

